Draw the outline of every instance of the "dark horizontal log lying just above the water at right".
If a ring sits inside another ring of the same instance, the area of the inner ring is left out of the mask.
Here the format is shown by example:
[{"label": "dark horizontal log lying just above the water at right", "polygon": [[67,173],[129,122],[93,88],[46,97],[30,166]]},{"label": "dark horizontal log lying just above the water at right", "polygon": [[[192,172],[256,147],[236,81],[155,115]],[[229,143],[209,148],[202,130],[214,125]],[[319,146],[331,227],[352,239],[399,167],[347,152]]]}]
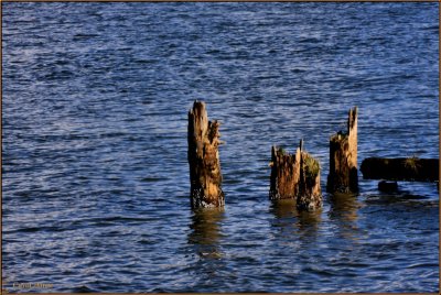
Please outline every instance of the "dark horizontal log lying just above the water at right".
[{"label": "dark horizontal log lying just above the water at right", "polygon": [[438,159],[367,157],[362,162],[361,171],[365,179],[438,182],[439,167]]}]

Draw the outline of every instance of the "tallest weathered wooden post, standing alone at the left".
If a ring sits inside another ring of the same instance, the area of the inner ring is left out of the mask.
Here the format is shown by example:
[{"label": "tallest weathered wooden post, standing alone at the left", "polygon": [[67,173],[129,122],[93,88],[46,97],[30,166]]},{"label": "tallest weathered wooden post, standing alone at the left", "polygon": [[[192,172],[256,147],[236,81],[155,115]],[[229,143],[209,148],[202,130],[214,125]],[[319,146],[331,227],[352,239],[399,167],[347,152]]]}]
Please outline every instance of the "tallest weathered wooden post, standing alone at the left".
[{"label": "tallest weathered wooden post, standing alone at the left", "polygon": [[192,208],[224,206],[219,123],[208,121],[203,101],[189,111],[189,164]]}]

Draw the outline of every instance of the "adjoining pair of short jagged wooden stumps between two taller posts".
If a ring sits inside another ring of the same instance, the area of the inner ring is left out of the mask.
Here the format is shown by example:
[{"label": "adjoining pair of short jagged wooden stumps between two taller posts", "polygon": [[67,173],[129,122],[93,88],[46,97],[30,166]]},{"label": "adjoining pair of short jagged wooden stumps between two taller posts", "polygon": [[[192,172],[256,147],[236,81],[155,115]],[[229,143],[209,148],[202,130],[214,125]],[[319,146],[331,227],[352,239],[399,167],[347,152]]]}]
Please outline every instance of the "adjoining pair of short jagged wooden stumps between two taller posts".
[{"label": "adjoining pair of short jagged wooden stumps between two taller posts", "polygon": [[320,165],[301,148],[295,154],[289,154],[272,146],[269,197],[271,200],[295,199],[298,209],[314,210],[322,205]]}]

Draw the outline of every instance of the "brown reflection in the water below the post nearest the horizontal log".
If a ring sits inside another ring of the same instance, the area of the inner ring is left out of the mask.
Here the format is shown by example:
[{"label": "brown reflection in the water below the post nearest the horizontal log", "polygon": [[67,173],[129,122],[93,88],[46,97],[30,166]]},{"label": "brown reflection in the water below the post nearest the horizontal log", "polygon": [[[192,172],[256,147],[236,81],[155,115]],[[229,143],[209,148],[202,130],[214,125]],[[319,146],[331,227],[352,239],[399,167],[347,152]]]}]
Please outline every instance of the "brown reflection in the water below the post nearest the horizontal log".
[{"label": "brown reflection in the water below the post nearest the horizontal log", "polygon": [[357,197],[347,194],[330,195],[330,204],[329,217],[338,226],[340,234],[345,239],[357,240],[359,234],[357,211],[362,207]]}]

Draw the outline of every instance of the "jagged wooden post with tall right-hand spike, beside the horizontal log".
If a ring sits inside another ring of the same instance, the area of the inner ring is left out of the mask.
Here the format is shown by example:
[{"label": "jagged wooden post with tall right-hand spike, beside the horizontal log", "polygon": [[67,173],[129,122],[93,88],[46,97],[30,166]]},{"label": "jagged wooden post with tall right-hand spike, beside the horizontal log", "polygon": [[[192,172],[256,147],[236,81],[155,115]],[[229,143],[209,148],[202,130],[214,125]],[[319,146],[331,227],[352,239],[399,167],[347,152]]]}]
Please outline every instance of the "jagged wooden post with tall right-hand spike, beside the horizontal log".
[{"label": "jagged wooden post with tall right-hand spike, beside the horizontal log", "polygon": [[338,132],[330,139],[329,193],[357,193],[357,117],[358,108],[349,110],[347,132]]}]

